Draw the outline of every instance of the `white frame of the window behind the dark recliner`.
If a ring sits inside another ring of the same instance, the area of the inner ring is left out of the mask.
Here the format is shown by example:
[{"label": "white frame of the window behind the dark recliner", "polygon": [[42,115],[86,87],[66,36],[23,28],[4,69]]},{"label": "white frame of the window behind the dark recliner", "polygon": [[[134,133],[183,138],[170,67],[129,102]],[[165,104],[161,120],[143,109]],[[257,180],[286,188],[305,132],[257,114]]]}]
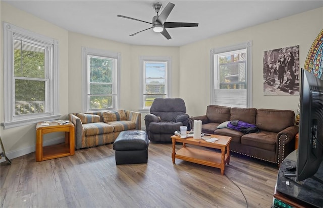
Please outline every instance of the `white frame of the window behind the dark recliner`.
[{"label": "white frame of the window behind the dark recliner", "polygon": [[155,62],[167,62],[167,69],[166,69],[166,76],[165,76],[165,87],[166,87],[166,97],[172,97],[172,57],[170,56],[140,56],[140,108],[138,109],[139,112],[150,112],[150,107],[145,107],[144,101],[144,90],[145,90],[145,82],[146,82],[146,75],[144,70],[144,62],[145,61],[155,61]]}]

